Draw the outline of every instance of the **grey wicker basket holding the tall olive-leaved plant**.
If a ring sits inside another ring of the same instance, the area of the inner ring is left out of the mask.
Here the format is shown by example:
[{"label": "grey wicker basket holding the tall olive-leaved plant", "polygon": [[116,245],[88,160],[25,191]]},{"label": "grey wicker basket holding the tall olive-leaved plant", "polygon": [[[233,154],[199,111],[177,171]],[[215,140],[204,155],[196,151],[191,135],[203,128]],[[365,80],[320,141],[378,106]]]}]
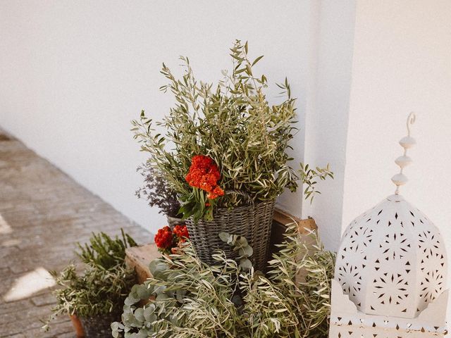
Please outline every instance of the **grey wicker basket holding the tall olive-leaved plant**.
[{"label": "grey wicker basket holding the tall olive-leaved plant", "polygon": [[237,254],[218,237],[219,232],[228,232],[246,237],[254,249],[251,257],[254,269],[264,271],[268,261],[274,204],[275,200],[271,200],[230,210],[219,208],[214,213],[214,220],[198,220],[195,224],[192,218],[187,219],[190,240],[201,261],[209,265],[217,264],[211,255],[218,249],[225,251],[228,258],[236,258]]}]

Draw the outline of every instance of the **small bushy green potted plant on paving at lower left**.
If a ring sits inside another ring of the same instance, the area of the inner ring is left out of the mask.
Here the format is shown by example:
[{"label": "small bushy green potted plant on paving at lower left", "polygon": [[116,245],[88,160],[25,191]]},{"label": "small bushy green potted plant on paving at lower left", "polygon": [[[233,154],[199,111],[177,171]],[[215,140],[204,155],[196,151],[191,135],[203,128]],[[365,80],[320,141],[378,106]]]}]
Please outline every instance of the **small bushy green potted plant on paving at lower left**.
[{"label": "small bushy green potted plant on paving at lower left", "polygon": [[121,231],[121,238],[100,232],[92,234],[89,244],[78,244],[82,273],[73,263],[51,272],[60,288],[54,291],[57,304],[44,330],[56,316],[68,314],[80,319],[85,337],[111,337],[110,324],[121,317],[123,301],[136,283],[135,271],[125,266],[125,249],[136,243]]}]

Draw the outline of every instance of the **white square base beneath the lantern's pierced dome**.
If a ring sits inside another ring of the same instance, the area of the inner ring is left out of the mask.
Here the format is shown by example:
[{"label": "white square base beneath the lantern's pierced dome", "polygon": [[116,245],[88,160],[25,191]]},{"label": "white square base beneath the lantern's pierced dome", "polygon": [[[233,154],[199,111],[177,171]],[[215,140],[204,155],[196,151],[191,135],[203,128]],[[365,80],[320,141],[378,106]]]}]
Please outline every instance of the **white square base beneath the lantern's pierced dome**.
[{"label": "white square base beneath the lantern's pierced dome", "polygon": [[415,318],[367,315],[357,310],[340,283],[332,280],[329,338],[428,338],[447,334],[445,315],[448,290]]}]

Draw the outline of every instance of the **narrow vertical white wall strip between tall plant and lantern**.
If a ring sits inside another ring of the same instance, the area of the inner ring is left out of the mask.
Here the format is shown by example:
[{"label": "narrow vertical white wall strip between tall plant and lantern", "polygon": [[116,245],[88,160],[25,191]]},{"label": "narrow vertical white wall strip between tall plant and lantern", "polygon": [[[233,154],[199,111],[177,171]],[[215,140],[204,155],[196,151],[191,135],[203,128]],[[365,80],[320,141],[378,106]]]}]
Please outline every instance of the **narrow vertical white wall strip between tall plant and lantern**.
[{"label": "narrow vertical white wall strip between tall plant and lantern", "polygon": [[304,203],[302,216],[313,216],[322,242],[336,250],[341,236],[355,4],[352,0],[317,4],[318,37],[311,63],[314,76],[307,100],[304,157],[312,165],[330,163],[334,180],[318,184],[321,195],[313,204]]}]

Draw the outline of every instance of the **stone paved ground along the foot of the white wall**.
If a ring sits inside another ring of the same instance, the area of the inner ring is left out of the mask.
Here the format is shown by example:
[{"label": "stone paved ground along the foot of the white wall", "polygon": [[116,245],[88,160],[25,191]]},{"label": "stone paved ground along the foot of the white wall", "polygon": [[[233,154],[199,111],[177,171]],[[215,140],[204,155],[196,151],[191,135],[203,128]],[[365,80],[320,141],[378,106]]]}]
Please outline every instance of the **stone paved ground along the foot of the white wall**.
[{"label": "stone paved ground along the foot of the white wall", "polygon": [[[65,316],[50,332],[40,330],[54,303],[50,289],[7,299],[75,259],[75,243],[91,232],[118,234],[121,227],[150,242],[149,232],[0,130],[0,337],[75,337]],[[24,282],[30,285],[13,289]]]}]

